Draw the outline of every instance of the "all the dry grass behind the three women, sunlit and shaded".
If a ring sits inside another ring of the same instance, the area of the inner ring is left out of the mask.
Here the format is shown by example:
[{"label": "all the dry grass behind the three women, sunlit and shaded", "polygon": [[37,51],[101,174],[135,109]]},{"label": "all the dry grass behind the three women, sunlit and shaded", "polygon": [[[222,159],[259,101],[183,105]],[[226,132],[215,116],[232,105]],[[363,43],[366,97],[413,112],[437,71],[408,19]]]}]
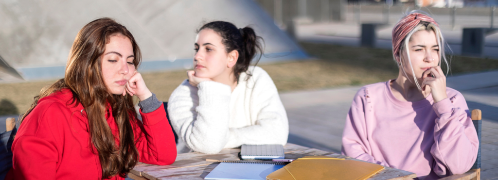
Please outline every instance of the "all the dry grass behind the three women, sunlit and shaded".
[{"label": "all the dry grass behind the three women, sunlit and shaded", "polygon": [[[280,92],[367,85],[394,79],[398,74],[390,50],[313,43],[300,45],[317,59],[260,65]],[[497,69],[498,60],[454,56],[451,61],[453,75]],[[171,92],[187,75],[181,70],[144,73],[142,77],[159,100],[168,101]],[[0,115],[24,113],[33,97],[54,82],[1,84]]]}]

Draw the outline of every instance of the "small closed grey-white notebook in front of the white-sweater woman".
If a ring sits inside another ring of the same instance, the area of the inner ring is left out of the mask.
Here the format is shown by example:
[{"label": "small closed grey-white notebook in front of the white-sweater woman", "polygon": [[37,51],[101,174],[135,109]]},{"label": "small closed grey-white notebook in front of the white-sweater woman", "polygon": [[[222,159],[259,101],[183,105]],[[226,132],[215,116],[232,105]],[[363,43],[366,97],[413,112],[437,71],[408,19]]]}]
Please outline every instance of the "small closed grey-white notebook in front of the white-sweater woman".
[{"label": "small closed grey-white notebook in front of the white-sweater woman", "polygon": [[283,146],[278,144],[271,145],[242,145],[242,159],[253,160],[272,160],[285,159]]}]

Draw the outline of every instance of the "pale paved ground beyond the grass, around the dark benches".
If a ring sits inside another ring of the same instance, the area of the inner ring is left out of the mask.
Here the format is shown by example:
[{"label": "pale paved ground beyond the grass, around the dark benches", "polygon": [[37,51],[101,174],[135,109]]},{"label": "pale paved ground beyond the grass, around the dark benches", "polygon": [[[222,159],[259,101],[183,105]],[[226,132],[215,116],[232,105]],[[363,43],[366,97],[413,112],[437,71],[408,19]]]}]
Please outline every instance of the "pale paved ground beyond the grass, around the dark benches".
[{"label": "pale paved ground beyond the grass, around the dark benches", "polygon": [[[387,25],[377,28],[377,48],[391,49],[392,28],[402,17],[401,13],[391,13]],[[461,43],[463,28],[470,27],[490,27],[490,16],[459,15],[456,25],[450,25],[450,15],[433,15],[440,23],[442,34],[451,49],[450,54],[461,55]],[[497,21],[495,18],[495,21]],[[362,23],[383,23],[382,13],[362,13]],[[497,27],[497,22],[494,23]],[[361,24],[354,17],[352,12],[348,12],[344,22],[326,22],[297,24],[296,36],[300,41],[331,43],[344,46],[360,46]],[[498,31],[486,36],[483,57],[498,59]],[[448,49],[447,49],[448,50]]]}]

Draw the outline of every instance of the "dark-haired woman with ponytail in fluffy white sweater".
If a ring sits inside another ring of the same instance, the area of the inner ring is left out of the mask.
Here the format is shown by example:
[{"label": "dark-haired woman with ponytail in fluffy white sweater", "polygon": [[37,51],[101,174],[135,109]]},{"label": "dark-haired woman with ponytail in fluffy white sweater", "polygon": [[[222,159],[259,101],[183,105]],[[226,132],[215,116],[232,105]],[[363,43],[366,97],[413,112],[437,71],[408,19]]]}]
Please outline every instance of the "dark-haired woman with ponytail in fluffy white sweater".
[{"label": "dark-haired woman with ponytail in fluffy white sweater", "polygon": [[169,98],[178,152],[215,154],[243,144],[287,143],[287,114],[266,72],[249,66],[262,54],[250,27],[214,21],[197,31],[194,70]]}]

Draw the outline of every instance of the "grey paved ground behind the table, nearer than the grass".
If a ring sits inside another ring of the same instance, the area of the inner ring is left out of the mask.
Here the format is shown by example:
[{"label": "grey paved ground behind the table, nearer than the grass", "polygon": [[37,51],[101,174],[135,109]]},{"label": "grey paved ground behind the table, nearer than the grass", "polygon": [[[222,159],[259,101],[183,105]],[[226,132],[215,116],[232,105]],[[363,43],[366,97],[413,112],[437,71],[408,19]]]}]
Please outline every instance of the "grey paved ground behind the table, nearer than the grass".
[{"label": "grey paved ground behind the table, nearer than the grass", "polygon": [[[479,77],[449,78],[448,82]],[[488,77],[488,78],[496,78]],[[479,87],[479,86],[476,86]],[[361,87],[282,93],[289,117],[289,142],[340,153],[346,114],[356,91]],[[467,100],[469,109],[483,111],[482,180],[498,179],[498,84],[477,89],[455,86]]]}]

